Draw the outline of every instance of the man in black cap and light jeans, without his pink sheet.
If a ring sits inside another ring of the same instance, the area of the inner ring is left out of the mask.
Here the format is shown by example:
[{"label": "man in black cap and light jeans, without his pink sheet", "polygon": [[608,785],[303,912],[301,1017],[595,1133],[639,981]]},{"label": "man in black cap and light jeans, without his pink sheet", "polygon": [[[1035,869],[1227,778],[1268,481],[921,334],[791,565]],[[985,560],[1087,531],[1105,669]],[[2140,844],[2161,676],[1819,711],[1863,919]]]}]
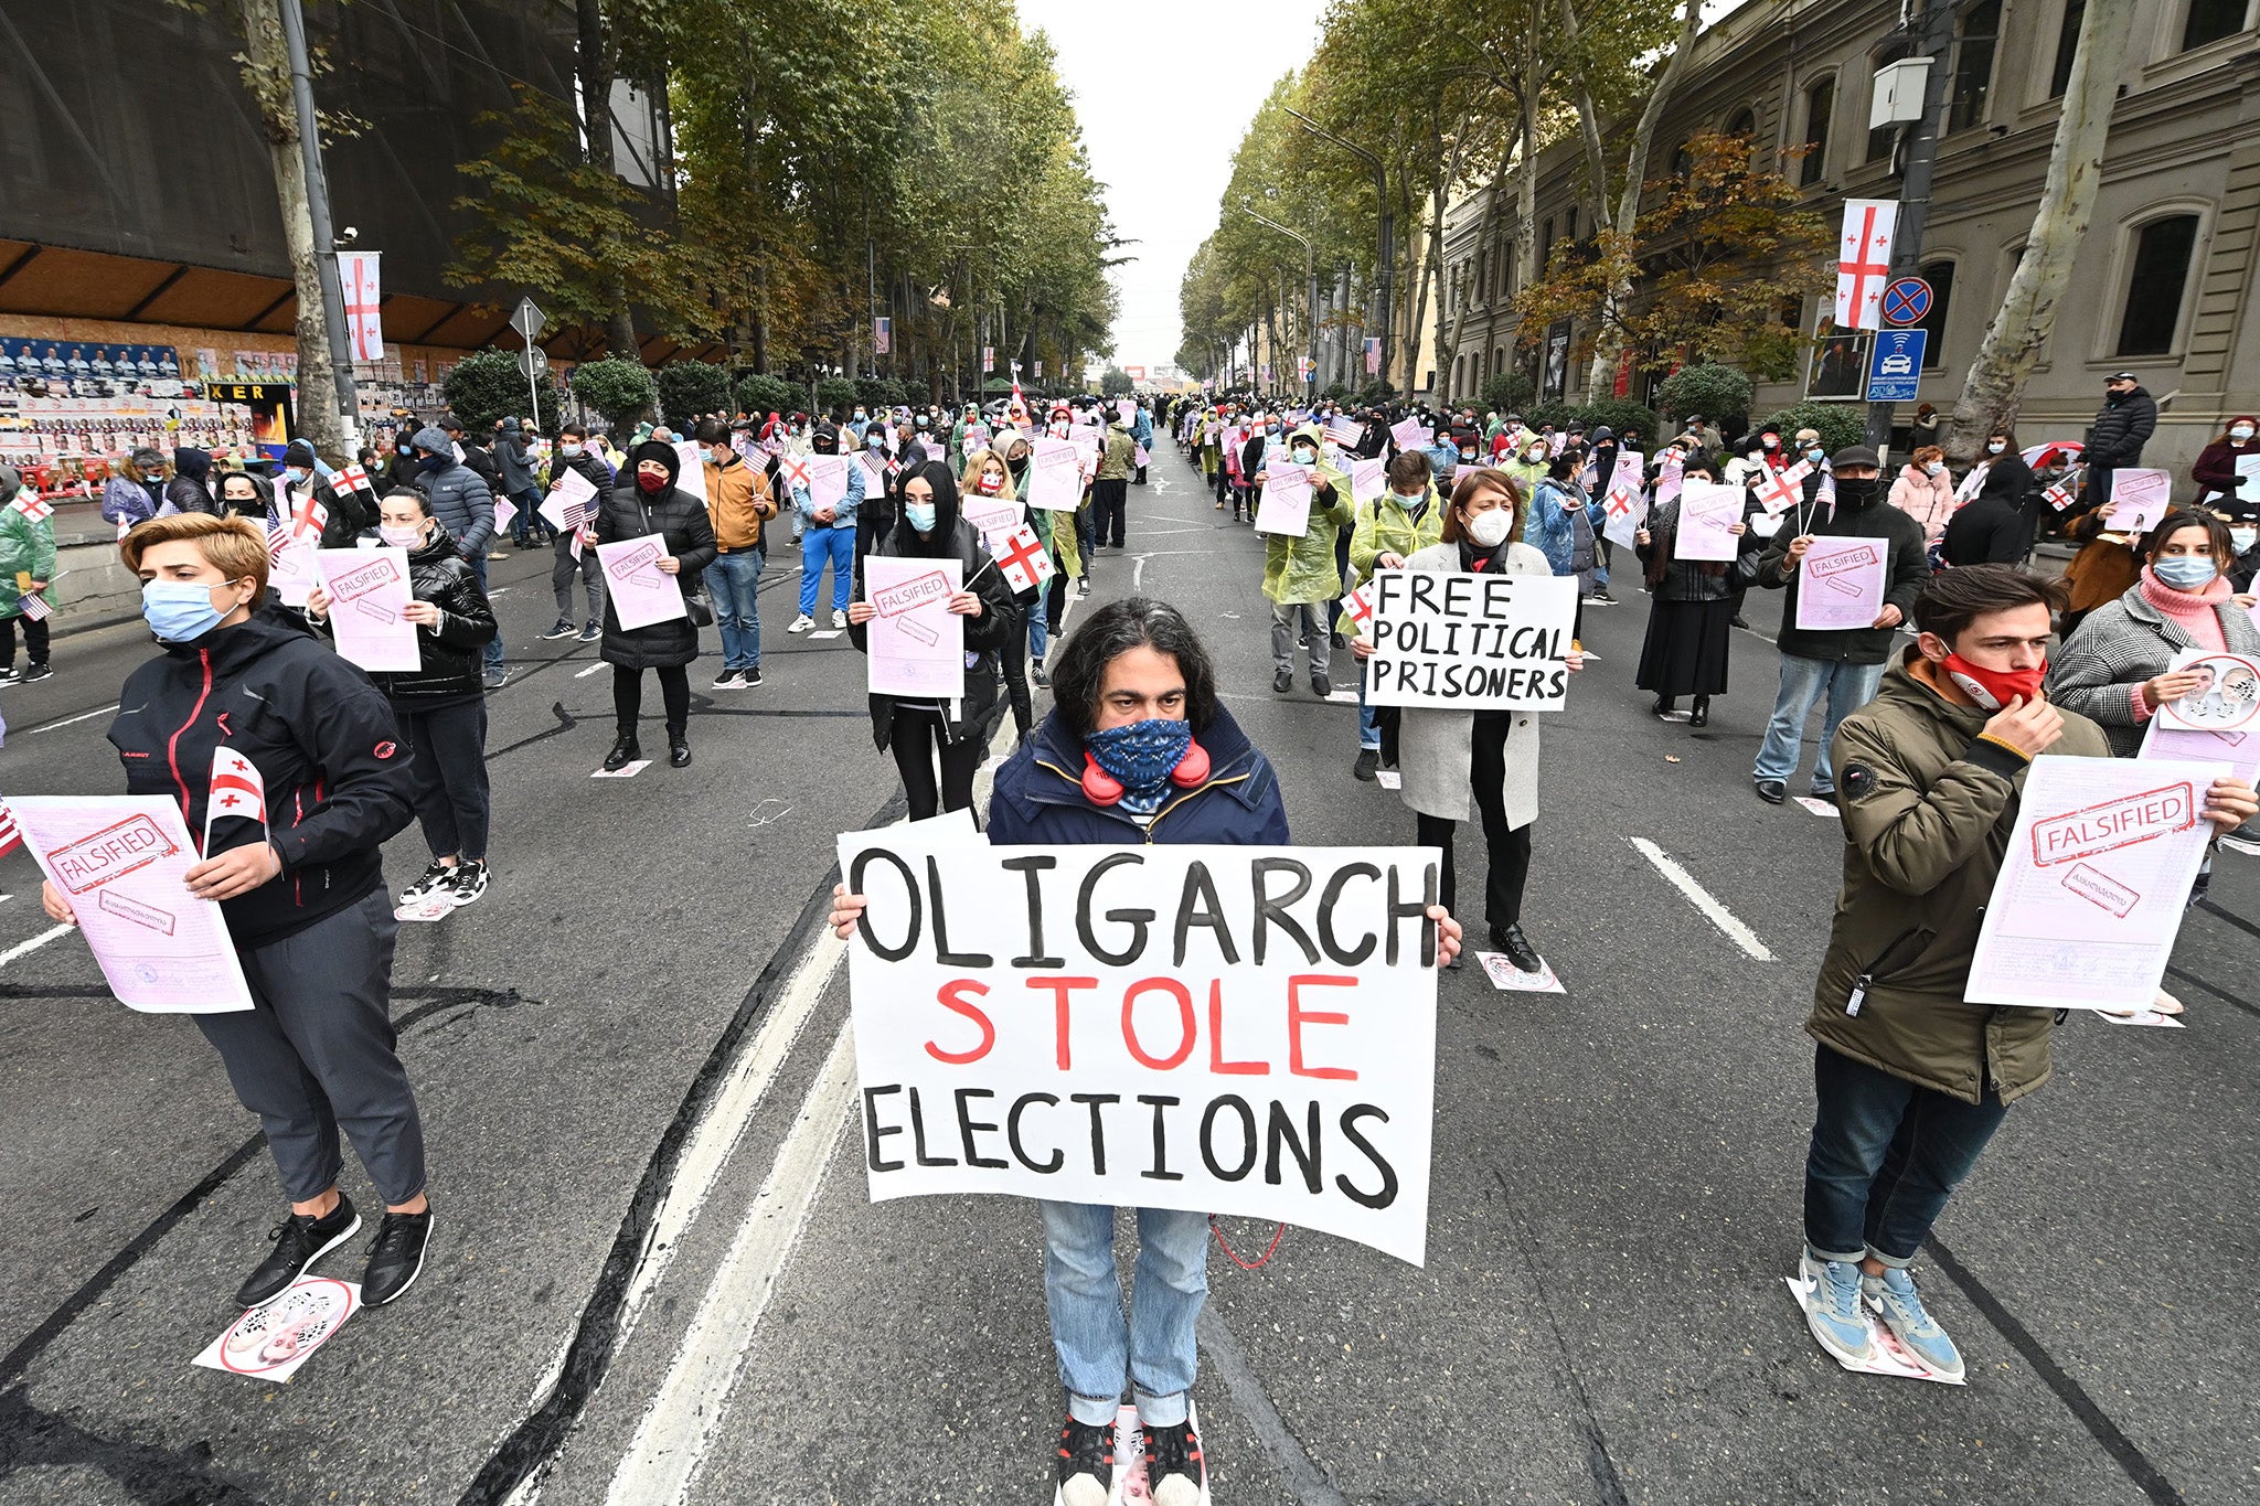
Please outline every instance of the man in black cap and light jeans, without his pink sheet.
[{"label": "man in black cap and light jeans, without his pink sheet", "polygon": [[[1803,434],[1810,434],[1803,431]],[[1817,436],[1815,436],[1817,438]],[[1808,456],[1810,458],[1810,456]],[[1883,680],[1883,664],[1892,655],[1892,632],[1914,607],[1914,596],[1930,576],[1930,560],[1923,553],[1921,526],[1898,508],[1876,506],[1883,501],[1878,479],[1880,461],[1867,445],[1849,445],[1831,461],[1831,499],[1819,494],[1794,508],[1794,535],[1774,544],[1758,560],[1758,585],[1785,589],[1781,603],[1781,689],[1774,693],[1774,713],[1758,745],[1758,761],[1749,777],[1758,799],[1779,806],[1788,799],[1790,774],[1803,754],[1806,718],[1813,702],[1828,698],[1822,723],[1822,745],[1813,759],[1813,795],[1826,799],[1835,795],[1835,770],[1828,761],[1828,745],[1837,725],[1864,707],[1876,695]],[[1783,528],[1790,519],[1783,519]],[[1797,596],[1801,585],[1799,560],[1813,546],[1815,535],[1880,540],[1889,560],[1885,564],[1883,610],[1869,628],[1810,630],[1797,625]]]}]

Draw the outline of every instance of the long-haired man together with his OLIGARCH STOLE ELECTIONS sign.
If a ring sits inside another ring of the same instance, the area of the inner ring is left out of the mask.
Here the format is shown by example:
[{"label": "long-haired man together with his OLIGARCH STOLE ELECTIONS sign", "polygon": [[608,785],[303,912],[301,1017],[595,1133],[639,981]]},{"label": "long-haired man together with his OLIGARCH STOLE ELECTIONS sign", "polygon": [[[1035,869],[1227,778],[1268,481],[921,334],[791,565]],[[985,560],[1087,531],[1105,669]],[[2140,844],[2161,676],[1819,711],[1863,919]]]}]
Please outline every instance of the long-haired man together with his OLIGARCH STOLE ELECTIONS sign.
[{"label": "long-haired man together with his OLIGARCH STOLE ELECTIONS sign", "polygon": [[[1383,878],[1379,863],[1322,863],[1322,851],[1254,851],[1245,858],[1216,851],[1284,847],[1286,808],[1277,774],[1218,702],[1209,655],[1175,607],[1146,598],[1101,607],[1058,655],[1053,691],[1055,709],[1035,738],[997,772],[990,802],[990,842],[1026,849],[1001,865],[990,860],[990,867],[1012,869],[1003,883],[1019,885],[999,890],[1015,894],[1024,887],[1028,905],[1012,905],[1010,912],[985,905],[999,930],[994,937],[981,933],[979,939],[972,939],[972,914],[949,914],[949,926],[967,928],[958,933],[967,937],[967,948],[988,944],[981,955],[988,978],[1055,996],[1053,1009],[1012,1009],[1024,1023],[1049,1025],[1040,1036],[1006,1021],[1003,998],[994,1000],[994,1012],[983,1002],[992,984],[963,971],[972,966],[967,953],[951,953],[951,966],[960,971],[942,982],[938,996],[929,984],[933,1002],[920,1002],[911,987],[897,987],[936,975],[945,917],[931,905],[949,858],[920,853],[906,863],[899,853],[872,851],[884,847],[877,838],[886,833],[841,838],[843,872],[857,885],[836,890],[832,921],[843,939],[861,937],[852,953],[850,984],[857,1059],[866,1068],[866,1165],[872,1194],[890,1197],[895,1188],[886,1179],[899,1190],[918,1192],[920,1181],[906,1181],[904,1174],[924,1179],[940,1158],[906,1165],[909,1158],[899,1152],[913,1095],[893,1068],[904,1063],[904,1075],[915,1070],[927,1086],[920,1113],[936,1115],[942,1104],[954,1104],[947,1109],[951,1122],[972,1122],[967,1133],[974,1136],[974,1147],[942,1149],[958,1165],[927,1181],[927,1190],[947,1190],[949,1183],[965,1190],[1042,1190],[1058,1176],[1051,1185],[1062,1192],[1074,1183],[1083,1197],[1112,1199],[1040,1203],[1044,1296],[1060,1382],[1067,1389],[1058,1499],[1071,1506],[1101,1506],[1107,1499],[1114,1416],[1128,1384],[1146,1436],[1150,1497],[1157,1506],[1189,1506],[1207,1488],[1200,1438],[1191,1422],[1196,1323],[1209,1287],[1202,1208],[1261,1206],[1268,1217],[1277,1217],[1270,1208],[1297,1206],[1309,1210],[1306,1217],[1351,1228],[1370,1242],[1388,1240],[1399,1246],[1397,1253],[1417,1258],[1410,1251],[1419,1244],[1392,1237],[1388,1219],[1392,1206],[1415,1206],[1415,1190],[1424,1201],[1428,1111],[1392,1115],[1385,1127],[1385,1111],[1374,1102],[1379,1091],[1349,1072],[1388,1075],[1392,1068],[1379,1063],[1385,1054],[1397,1059],[1397,1068],[1433,1075],[1435,984],[1422,969],[1458,955],[1460,933],[1440,905],[1424,903],[1433,894],[1433,881],[1419,872],[1415,853],[1372,853],[1390,858],[1390,878]],[[1207,851],[1148,865],[1139,853],[1150,851],[1150,844],[1193,844]],[[1087,863],[1062,853],[1074,847],[1121,851]],[[1202,863],[1209,853],[1216,853],[1211,863]],[[958,863],[949,863],[958,872]],[[1071,869],[1076,878],[1062,883],[1060,869]],[[904,874],[911,883],[904,883]],[[929,876],[936,887],[927,887]],[[1232,885],[1234,876],[1241,876],[1238,885]],[[866,883],[875,896],[868,933],[861,930],[866,896],[859,887]],[[1333,901],[1324,901],[1327,894]],[[1374,905],[1374,896],[1383,896],[1383,905]],[[1094,914],[1094,899],[1103,899],[1112,921]],[[1150,899],[1150,910],[1171,919],[1162,926],[1137,919],[1146,910],[1125,910],[1132,899]],[[1293,910],[1311,908],[1313,901],[1336,912],[1329,921],[1313,917],[1318,933],[1295,919]],[[913,910],[924,910],[931,921],[920,926],[911,919]],[[1351,912],[1356,921],[1347,919]],[[1078,914],[1087,919],[1078,921]],[[1026,921],[1026,928],[1008,935],[1003,921],[1015,919]],[[1284,921],[1293,921],[1297,935],[1318,946],[1347,942],[1347,951],[1322,957],[1290,939]],[[1042,937],[1035,935],[1035,923],[1044,926]],[[920,928],[913,935],[906,926]],[[1266,926],[1275,928],[1257,939],[1257,930]],[[1171,935],[1184,944],[1173,946]],[[1101,951],[1132,937],[1130,951]],[[1080,946],[1083,939],[1092,944]],[[1227,957],[1248,962],[1234,966]],[[886,960],[897,962],[881,966]],[[1320,989],[1309,978],[1299,984],[1272,980],[1277,969],[1299,969],[1306,962],[1327,962],[1324,978],[1333,987]],[[1062,975],[1062,969],[1074,973],[1085,964],[1094,973]],[[1098,966],[1119,971],[1132,964],[1141,971],[1123,975],[1128,998],[1121,984],[1114,1009],[1092,998],[1089,989],[1101,987]],[[1042,973],[1010,978],[1017,969]],[[1205,973],[1198,991],[1177,978],[1196,969]],[[1153,978],[1141,982],[1146,975]],[[1144,1007],[1135,1007],[1141,998]],[[1358,1032],[1372,1030],[1376,1014],[1399,1034],[1385,1050],[1376,1045],[1370,1054],[1356,1052]],[[1110,1043],[1096,1023],[1114,1016],[1123,1027],[1112,1032]],[[1182,1023],[1182,1045],[1175,1025],[1159,1021]],[[1227,1045],[1234,1027],[1243,1034]],[[1006,1030],[1012,1032],[1010,1039]],[[1257,1050],[1252,1041],[1259,1030],[1277,1045],[1277,1061],[1243,1057]],[[1198,1050],[1196,1034],[1205,1036]],[[1415,1034],[1424,1050],[1408,1050]],[[1040,1045],[1033,1054],[1031,1039]],[[897,1050],[890,1041],[913,1045]],[[922,1041],[931,1045],[918,1045]],[[1338,1054],[1345,1043],[1351,1045],[1349,1057]],[[888,1072],[881,1075],[879,1068]],[[958,1075],[942,1068],[956,1068]],[[1180,1100],[1191,1100],[1175,1088],[1180,1070],[1182,1086],[1193,1086],[1191,1079],[1207,1072],[1227,1091],[1207,1093],[1205,1109],[1186,1113]],[[1017,1082],[1008,1086],[1026,1084],[1028,1091],[1003,1097],[999,1088],[960,1086],[979,1084],[974,1072],[1017,1072]],[[1114,1091],[1071,1100],[1123,1077],[1153,1082],[1155,1088],[1139,1093],[1137,1104],[1123,1104],[1125,1095]],[[1410,1097],[1424,1097],[1419,1079],[1410,1082]],[[1358,1102],[1338,1104],[1338,1095],[1354,1095]],[[1331,1122],[1324,1118],[1329,1104],[1336,1106]],[[1046,1118],[1062,1106],[1071,1106],[1078,1118]],[[1006,1118],[1019,1124],[1024,1154],[1017,1158],[992,1156],[990,1149],[1006,1145],[1008,1136],[981,1122]],[[1058,1138],[1040,1142],[1040,1120],[1044,1133],[1058,1129]],[[1419,1127],[1410,1120],[1419,1120]],[[933,1122],[940,1133],[940,1120]],[[1272,1129],[1263,1129],[1266,1124]],[[1311,1124],[1327,1127],[1329,1156],[1333,1147],[1347,1149],[1363,1140],[1388,1161],[1388,1174],[1363,1156],[1356,1170],[1349,1163],[1304,1158],[1306,1152],[1318,1154],[1320,1145]],[[1284,1156],[1279,1174],[1250,1176],[1263,1161],[1268,1133],[1277,1136],[1272,1145]],[[940,1147],[942,1140],[936,1138],[933,1145]],[[1080,1161],[1071,1163],[1069,1152],[1078,1147]],[[1105,1167],[1094,1147],[1114,1152]],[[1166,1165],[1153,1163],[1155,1147],[1168,1156]],[[1058,1161],[1051,1158],[1053,1149]],[[1336,1176],[1345,1181],[1331,1181]],[[1281,1192],[1288,1203],[1272,1203]],[[1123,1199],[1155,1203],[1137,1208],[1139,1262],[1128,1321],[1114,1262],[1114,1212]]]}]

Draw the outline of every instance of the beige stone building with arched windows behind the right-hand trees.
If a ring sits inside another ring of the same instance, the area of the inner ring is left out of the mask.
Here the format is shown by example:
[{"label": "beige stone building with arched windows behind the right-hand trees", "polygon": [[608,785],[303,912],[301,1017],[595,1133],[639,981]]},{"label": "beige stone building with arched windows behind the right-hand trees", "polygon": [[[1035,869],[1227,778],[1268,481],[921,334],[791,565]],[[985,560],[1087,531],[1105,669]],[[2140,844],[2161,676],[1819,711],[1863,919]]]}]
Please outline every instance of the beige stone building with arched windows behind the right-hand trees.
[{"label": "beige stone building with arched windows behind the right-hand trees", "polygon": [[[2260,228],[2260,0],[2147,0],[2120,65],[2120,99],[2102,190],[2072,284],[2025,388],[2020,440],[2077,438],[2102,404],[2104,375],[2133,370],[2158,397],[2145,454],[2188,465],[2235,413],[2260,409],[2260,321],[2253,318]],[[1937,291],[1921,400],[1946,411],[1962,391],[2016,271],[2048,174],[2059,99],[2077,50],[2084,0],[1962,0],[1946,52],[1939,135],[1921,273]],[[1695,43],[1666,102],[1650,176],[1700,131],[1747,133],[1788,154],[1779,165],[1803,208],[1831,228],[1844,199],[1898,199],[1898,131],[1869,131],[1869,50],[1896,27],[1887,0],[1751,0]],[[1618,149],[1618,158],[1620,149]],[[1591,233],[1577,199],[1582,154],[1562,140],[1539,154],[1537,246]],[[1587,361],[1564,325],[1521,332],[1514,298],[1514,181],[1485,242],[1492,185],[1446,214],[1449,391],[1471,397],[1521,364],[1541,397],[1584,402]],[[1799,327],[1826,332],[1831,300],[1806,298]],[[1756,411],[1801,397],[1849,400],[1844,368],[1864,373],[1864,343],[1808,359],[1792,382],[1761,384]],[[1632,395],[1643,395],[1641,377]],[[1912,404],[1901,406],[1901,422]]]}]

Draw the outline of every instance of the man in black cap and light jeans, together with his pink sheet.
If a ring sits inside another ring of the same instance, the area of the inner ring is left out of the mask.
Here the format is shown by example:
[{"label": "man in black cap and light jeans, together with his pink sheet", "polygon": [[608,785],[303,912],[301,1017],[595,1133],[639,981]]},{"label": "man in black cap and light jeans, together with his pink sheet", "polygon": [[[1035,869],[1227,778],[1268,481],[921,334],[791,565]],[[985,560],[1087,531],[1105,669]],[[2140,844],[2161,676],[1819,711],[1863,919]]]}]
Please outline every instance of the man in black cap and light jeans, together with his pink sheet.
[{"label": "man in black cap and light jeans, together with his pink sheet", "polygon": [[[1781,689],[1749,777],[1758,799],[1788,799],[1790,774],[1803,754],[1813,702],[1828,698],[1822,747],[1813,761],[1813,795],[1835,795],[1828,745],[1837,725],[1864,707],[1883,682],[1892,634],[1930,578],[1923,526],[1880,504],[1883,463],[1867,445],[1849,445],[1828,461],[1835,501],[1815,501],[1813,533],[1776,537],[1758,560],[1758,585],[1788,589],[1781,607]],[[1828,517],[1819,517],[1828,513]],[[1815,569],[1801,569],[1806,555]]]}]

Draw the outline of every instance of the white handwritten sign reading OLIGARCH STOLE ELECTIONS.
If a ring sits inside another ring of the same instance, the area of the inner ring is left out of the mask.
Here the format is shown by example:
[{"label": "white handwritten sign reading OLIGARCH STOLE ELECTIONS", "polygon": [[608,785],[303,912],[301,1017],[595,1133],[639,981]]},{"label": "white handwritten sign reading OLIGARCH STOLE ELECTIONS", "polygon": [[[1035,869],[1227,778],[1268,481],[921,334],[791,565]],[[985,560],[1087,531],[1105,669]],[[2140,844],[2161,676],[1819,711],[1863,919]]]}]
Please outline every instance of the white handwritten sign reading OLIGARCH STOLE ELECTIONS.
[{"label": "white handwritten sign reading OLIGARCH STOLE ELECTIONS", "polygon": [[1010,1192],[1422,1264],[1437,853],[838,840],[872,1201]]}]

